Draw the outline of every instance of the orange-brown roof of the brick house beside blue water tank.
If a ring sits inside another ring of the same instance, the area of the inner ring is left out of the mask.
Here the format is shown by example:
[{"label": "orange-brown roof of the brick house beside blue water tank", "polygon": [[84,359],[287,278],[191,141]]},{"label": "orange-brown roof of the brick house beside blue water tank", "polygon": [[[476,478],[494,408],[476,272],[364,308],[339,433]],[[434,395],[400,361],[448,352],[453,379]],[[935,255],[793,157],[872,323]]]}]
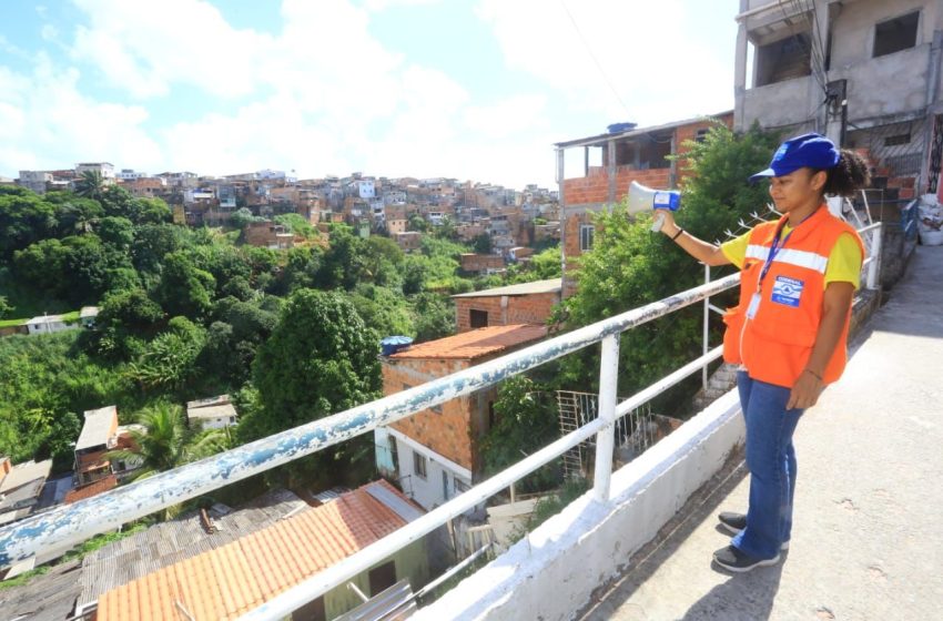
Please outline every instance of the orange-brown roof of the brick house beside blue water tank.
[{"label": "orange-brown roof of the brick house beside blue water tank", "polygon": [[546,335],[546,326],[533,324],[489,326],[413,345],[400,349],[389,358],[394,360],[417,358],[472,360],[539,340]]}]

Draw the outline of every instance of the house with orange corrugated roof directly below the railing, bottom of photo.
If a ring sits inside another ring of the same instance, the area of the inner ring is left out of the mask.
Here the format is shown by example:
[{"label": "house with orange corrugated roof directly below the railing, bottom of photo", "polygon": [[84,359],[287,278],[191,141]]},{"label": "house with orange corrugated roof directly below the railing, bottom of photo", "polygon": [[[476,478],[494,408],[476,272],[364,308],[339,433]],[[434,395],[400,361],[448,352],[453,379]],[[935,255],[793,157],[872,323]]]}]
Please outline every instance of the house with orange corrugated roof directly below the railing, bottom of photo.
[{"label": "house with orange corrugated roof directly below the railing, bottom of photo", "polygon": [[[372,482],[108,591],[98,600],[97,619],[236,619],[422,515],[388,482]],[[428,582],[425,539],[351,582],[373,597],[404,578],[414,590]],[[361,603],[344,584],[294,618],[334,619]]]}]

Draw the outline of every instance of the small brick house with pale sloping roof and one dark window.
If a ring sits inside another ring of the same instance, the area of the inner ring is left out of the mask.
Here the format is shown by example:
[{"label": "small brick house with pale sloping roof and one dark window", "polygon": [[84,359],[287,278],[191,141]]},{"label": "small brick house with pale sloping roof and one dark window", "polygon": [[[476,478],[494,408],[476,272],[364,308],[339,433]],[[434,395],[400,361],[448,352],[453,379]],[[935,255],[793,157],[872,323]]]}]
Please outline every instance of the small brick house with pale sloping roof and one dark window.
[{"label": "small brick house with pale sloping roof and one dark window", "polygon": [[560,278],[453,295],[458,332],[511,324],[544,324],[560,303]]}]

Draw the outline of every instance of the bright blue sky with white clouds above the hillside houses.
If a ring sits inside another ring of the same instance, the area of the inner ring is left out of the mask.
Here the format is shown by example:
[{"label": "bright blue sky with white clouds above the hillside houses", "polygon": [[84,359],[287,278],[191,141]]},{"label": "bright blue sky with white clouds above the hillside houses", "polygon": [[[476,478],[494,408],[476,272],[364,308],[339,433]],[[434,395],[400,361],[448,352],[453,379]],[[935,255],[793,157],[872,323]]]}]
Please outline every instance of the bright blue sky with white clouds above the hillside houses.
[{"label": "bright blue sky with white clouds above the hillside houses", "polygon": [[738,4],[7,2],[0,175],[102,160],[552,186],[554,142],[731,109]]}]

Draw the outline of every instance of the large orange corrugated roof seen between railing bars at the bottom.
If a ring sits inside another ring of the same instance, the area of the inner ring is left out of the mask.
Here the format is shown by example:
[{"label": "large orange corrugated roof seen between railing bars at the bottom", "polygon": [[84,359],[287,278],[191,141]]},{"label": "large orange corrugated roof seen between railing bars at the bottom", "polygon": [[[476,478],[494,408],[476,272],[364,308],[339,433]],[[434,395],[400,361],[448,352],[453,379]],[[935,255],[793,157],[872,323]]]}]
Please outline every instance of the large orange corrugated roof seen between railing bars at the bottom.
[{"label": "large orange corrugated roof seen between railing bars at the bottom", "polygon": [[195,619],[244,614],[406,523],[366,487],[111,590],[98,619],[173,619],[178,602]]}]

